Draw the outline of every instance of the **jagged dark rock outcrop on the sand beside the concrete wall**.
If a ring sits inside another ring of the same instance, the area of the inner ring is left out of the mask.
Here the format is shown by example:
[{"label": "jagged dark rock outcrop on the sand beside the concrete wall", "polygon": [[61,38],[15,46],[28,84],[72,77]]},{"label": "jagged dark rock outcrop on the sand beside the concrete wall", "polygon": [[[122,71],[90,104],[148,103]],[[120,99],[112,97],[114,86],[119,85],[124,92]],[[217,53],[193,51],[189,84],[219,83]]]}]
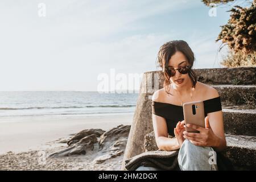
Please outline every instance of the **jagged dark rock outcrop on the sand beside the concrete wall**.
[{"label": "jagged dark rock outcrop on the sand beside the concrete wall", "polygon": [[[130,125],[119,125],[105,132],[101,129],[82,130],[69,140],[67,148],[53,152],[48,157],[85,155],[87,150],[92,151],[97,147],[98,157],[93,162],[100,164],[123,154],[129,132]],[[97,137],[100,137],[99,141]]]}]

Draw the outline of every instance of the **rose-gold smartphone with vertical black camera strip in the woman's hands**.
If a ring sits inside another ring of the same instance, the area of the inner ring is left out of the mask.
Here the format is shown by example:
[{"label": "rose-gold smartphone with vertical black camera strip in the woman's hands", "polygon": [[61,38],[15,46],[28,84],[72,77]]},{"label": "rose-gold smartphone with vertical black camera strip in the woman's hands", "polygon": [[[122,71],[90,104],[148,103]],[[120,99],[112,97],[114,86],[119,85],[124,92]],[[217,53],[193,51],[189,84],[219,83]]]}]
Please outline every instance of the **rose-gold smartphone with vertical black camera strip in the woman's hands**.
[{"label": "rose-gold smartphone with vertical black camera strip in the woman's hands", "polygon": [[[191,123],[194,125],[205,127],[203,101],[185,102],[182,106],[183,106],[185,126],[188,123]],[[187,132],[199,133],[199,131],[192,129],[190,127],[185,127],[185,130]]]}]

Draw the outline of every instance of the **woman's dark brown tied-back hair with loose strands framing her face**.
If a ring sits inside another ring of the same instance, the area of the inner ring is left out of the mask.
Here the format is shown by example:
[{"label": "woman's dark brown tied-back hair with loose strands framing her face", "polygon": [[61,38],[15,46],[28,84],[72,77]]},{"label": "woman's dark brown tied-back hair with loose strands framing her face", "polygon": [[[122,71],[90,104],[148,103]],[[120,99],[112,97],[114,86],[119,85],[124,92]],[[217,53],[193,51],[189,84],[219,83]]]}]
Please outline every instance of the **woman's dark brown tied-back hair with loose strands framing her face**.
[{"label": "woman's dark brown tied-back hair with loose strands framing her face", "polygon": [[[164,90],[167,94],[170,91],[170,75],[168,74],[168,63],[171,59],[172,55],[174,55],[177,51],[183,53],[183,55],[187,58],[189,65],[193,67],[193,63],[195,61],[194,53],[192,52],[191,48],[188,46],[188,43],[184,40],[172,40],[170,42],[164,43],[163,46],[160,47],[157,57],[157,63],[159,67],[162,68],[163,75],[164,75]],[[162,74],[159,74],[162,76]],[[196,86],[196,73],[191,69],[188,72],[188,76],[191,78],[192,81],[192,88]]]}]

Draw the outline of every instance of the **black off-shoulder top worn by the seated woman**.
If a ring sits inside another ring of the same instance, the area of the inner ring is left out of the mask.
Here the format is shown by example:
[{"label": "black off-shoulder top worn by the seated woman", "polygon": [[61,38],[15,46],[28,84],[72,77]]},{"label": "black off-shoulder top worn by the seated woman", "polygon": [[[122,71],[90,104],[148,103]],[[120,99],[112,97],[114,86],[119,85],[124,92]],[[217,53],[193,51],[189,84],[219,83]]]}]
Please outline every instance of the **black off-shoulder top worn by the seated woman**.
[{"label": "black off-shoulder top worn by the seated woman", "polygon": [[[220,96],[205,100],[204,115],[222,110]],[[177,122],[184,120],[183,107],[164,102],[151,101],[152,113],[166,119],[168,134],[174,136]]]}]

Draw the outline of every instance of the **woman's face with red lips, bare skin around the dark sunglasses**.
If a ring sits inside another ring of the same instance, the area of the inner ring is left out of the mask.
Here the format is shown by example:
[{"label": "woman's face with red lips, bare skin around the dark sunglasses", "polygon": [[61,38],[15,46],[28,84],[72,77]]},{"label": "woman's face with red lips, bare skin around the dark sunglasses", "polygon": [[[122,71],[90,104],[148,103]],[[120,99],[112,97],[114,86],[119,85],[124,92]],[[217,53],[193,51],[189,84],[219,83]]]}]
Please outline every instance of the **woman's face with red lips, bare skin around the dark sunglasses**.
[{"label": "woman's face with red lips, bare skin around the dark sunglasses", "polygon": [[189,65],[187,58],[183,55],[182,52],[177,51],[174,55],[172,55],[169,60],[168,68],[174,68],[175,75],[170,78],[172,84],[176,86],[186,85],[190,80],[190,77],[187,74],[181,74],[177,68],[183,67],[185,65]]}]

